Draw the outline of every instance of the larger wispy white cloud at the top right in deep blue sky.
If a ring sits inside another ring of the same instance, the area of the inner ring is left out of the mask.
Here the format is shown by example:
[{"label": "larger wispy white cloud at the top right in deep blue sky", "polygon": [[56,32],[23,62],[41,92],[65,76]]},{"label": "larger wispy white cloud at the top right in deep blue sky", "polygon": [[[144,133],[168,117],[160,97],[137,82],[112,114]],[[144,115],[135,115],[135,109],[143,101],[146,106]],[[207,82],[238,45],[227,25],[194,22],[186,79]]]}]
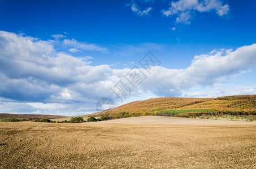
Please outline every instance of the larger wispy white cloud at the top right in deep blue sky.
[{"label": "larger wispy white cloud at the top right in deep blue sky", "polygon": [[176,23],[190,24],[190,19],[196,12],[214,11],[219,16],[227,15],[229,6],[220,0],[179,0],[171,2],[168,10],[163,10],[165,16],[176,16]]}]

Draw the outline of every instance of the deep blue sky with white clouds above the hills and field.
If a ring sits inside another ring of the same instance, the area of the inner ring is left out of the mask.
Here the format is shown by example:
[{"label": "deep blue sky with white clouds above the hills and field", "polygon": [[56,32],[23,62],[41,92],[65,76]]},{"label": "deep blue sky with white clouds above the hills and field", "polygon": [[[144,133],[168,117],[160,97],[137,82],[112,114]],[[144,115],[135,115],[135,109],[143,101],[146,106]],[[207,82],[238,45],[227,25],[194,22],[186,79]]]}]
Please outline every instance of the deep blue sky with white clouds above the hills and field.
[{"label": "deep blue sky with white clouds above the hills and field", "polygon": [[0,113],[72,116],[96,112],[103,97],[118,106],[255,94],[255,7],[0,0]]}]

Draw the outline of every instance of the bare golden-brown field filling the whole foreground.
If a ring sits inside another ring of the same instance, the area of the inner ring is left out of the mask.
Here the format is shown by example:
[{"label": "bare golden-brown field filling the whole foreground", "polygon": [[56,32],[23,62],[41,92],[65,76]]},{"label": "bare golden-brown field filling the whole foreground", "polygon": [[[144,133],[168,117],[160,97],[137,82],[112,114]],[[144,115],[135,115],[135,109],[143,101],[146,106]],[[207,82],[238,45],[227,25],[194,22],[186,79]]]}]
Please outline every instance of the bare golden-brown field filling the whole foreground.
[{"label": "bare golden-brown field filling the whole foreground", "polygon": [[255,122],[153,118],[1,122],[0,168],[256,167]]}]

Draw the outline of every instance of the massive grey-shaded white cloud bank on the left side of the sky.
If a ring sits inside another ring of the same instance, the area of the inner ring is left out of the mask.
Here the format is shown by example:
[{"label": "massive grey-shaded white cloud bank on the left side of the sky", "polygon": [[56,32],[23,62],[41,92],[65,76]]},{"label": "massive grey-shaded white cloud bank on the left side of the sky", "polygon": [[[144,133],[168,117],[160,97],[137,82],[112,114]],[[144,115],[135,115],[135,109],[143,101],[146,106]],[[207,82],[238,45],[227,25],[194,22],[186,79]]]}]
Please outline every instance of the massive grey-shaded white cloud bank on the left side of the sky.
[{"label": "massive grey-shaded white cloud bank on the left side of the sky", "polygon": [[[88,59],[92,57],[56,52],[46,41],[0,32],[0,94],[22,101],[61,101],[68,99],[63,94],[65,89],[73,86],[78,91],[68,90],[73,94],[69,100],[75,101],[86,92],[93,93],[86,88],[97,87],[94,83],[104,81],[111,74],[109,65],[89,66]],[[94,96],[104,88],[95,91]]]}]

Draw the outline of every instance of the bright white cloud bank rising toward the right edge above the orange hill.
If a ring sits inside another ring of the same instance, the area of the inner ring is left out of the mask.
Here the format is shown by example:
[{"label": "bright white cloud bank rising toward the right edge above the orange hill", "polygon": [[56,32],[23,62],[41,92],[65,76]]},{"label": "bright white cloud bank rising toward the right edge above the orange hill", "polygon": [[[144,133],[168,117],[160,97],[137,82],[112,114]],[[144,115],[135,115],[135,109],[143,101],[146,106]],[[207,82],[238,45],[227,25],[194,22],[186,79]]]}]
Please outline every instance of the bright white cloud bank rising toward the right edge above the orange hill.
[{"label": "bright white cloud bank rising toward the right edge above the orange hill", "polygon": [[[161,66],[152,68],[152,74],[142,84],[147,90],[153,89],[159,95],[172,92],[177,96],[182,90],[194,86],[212,86],[225,82],[232,75],[240,74],[256,66],[256,43],[242,46],[235,51],[220,50],[194,56],[186,69],[167,69]],[[168,96],[171,96],[168,95]]]}]

